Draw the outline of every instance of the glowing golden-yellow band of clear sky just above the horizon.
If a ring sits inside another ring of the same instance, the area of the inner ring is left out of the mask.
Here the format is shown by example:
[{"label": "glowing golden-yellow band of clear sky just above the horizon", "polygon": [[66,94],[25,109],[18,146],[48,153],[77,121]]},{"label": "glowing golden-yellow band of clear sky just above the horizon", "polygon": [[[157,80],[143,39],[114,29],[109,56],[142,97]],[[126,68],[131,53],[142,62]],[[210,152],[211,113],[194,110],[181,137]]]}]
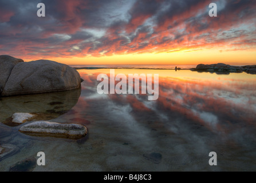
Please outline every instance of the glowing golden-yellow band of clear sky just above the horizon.
[{"label": "glowing golden-yellow band of clear sky just above the horizon", "polygon": [[[221,51],[220,49],[183,50],[171,53],[123,54],[102,57],[47,58],[67,65],[198,65],[199,63],[255,64],[254,50]],[[41,58],[38,58],[41,59]],[[25,59],[25,61],[30,61]]]}]

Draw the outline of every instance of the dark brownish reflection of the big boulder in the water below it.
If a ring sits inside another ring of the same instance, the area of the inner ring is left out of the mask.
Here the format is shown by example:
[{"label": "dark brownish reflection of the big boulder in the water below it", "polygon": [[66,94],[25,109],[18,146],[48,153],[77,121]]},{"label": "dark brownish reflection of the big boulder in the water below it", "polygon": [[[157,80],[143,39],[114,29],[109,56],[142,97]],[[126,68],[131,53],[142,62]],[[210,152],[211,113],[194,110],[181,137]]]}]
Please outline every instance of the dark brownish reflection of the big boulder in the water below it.
[{"label": "dark brownish reflection of the big boulder in the water below it", "polygon": [[2,97],[0,98],[0,122],[8,126],[17,125],[11,122],[14,113],[36,115],[34,121],[52,120],[72,109],[77,104],[80,94],[81,87],[65,92]]}]

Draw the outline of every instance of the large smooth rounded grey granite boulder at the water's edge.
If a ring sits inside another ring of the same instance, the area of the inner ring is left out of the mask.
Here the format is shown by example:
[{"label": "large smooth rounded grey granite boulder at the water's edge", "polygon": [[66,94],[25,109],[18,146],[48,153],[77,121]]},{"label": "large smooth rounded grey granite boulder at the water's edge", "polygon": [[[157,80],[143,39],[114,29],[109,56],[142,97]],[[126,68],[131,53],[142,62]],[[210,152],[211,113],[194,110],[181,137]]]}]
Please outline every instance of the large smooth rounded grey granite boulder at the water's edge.
[{"label": "large smooth rounded grey granite boulder at the water's edge", "polygon": [[[4,79],[6,75],[1,73],[0,78]],[[80,74],[68,65],[48,60],[19,62],[11,70],[1,95],[61,92],[77,89],[80,85]]]}]

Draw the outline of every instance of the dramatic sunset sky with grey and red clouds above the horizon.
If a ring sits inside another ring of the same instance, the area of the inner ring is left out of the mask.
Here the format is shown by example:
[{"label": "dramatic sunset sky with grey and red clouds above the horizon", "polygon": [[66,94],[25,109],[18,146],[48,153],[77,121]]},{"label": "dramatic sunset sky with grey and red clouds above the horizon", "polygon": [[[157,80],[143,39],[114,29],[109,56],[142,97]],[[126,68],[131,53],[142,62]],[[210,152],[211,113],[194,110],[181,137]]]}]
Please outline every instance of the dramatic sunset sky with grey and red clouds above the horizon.
[{"label": "dramatic sunset sky with grey and red clouds above the horizon", "polygon": [[254,0],[0,0],[0,55],[69,65],[249,65],[255,25]]}]

